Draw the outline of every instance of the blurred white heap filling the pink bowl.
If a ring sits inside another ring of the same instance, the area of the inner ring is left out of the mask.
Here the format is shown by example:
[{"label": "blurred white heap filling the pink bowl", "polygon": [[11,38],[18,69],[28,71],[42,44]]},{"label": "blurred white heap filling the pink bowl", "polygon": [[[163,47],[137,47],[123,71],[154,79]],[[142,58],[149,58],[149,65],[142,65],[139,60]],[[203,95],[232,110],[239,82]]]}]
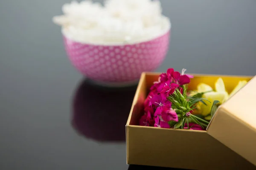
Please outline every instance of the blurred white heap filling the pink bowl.
[{"label": "blurred white heap filling the pink bowl", "polygon": [[90,0],[62,6],[53,17],[62,33],[75,41],[96,45],[133,44],[152,40],[171,28],[158,0],[106,0],[104,6]]}]

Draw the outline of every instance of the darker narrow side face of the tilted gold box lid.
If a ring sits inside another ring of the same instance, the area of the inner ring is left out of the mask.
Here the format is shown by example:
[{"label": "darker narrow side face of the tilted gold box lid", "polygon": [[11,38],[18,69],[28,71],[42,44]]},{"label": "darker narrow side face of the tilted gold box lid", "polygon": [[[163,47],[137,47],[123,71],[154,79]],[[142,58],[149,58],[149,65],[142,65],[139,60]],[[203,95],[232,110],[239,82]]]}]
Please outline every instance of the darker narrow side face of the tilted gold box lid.
[{"label": "darker narrow side face of the tilted gold box lid", "polygon": [[218,109],[207,133],[256,165],[255,130],[224,107]]}]

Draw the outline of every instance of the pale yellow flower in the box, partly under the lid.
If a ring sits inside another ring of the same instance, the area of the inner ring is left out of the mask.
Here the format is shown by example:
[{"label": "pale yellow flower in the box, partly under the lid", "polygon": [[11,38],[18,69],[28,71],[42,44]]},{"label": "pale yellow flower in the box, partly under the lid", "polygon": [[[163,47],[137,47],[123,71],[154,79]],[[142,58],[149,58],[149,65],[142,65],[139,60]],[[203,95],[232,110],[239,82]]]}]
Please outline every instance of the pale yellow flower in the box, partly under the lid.
[{"label": "pale yellow flower in the box, partly under the lid", "polygon": [[215,82],[215,91],[213,91],[213,89],[209,85],[200,83],[198,85],[197,92],[202,93],[202,92],[210,91],[203,94],[202,97],[204,99],[209,100],[209,102],[211,103],[209,103],[208,101],[204,101],[207,104],[207,105],[204,105],[202,102],[199,102],[196,113],[200,113],[203,116],[207,116],[211,111],[212,103],[214,102],[214,100],[220,101],[220,104],[224,103],[230,96],[232,96],[237,91],[239,91],[239,89],[242,88],[246,83],[247,81],[240,81],[238,85],[230,93],[230,95],[227,93],[223,79],[221,78],[219,78]]}]

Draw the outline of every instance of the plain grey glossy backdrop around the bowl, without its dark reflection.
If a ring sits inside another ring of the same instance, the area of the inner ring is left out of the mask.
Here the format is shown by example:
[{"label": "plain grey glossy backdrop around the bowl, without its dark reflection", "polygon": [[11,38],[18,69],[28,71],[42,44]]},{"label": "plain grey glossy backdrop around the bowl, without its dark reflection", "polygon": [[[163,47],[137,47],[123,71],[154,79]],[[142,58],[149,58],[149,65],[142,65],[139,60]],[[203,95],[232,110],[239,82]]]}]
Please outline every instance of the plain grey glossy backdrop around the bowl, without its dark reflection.
[{"label": "plain grey glossy backdrop around the bowl, without its dark reflection", "polygon": [[[82,76],[67,59],[61,28],[52,23],[66,2],[0,1],[0,169],[100,166],[91,160],[126,167],[124,144],[103,147],[70,127],[70,100]],[[256,0],[161,2],[172,38],[158,71],[256,74]],[[108,155],[112,148],[117,156]]]}]

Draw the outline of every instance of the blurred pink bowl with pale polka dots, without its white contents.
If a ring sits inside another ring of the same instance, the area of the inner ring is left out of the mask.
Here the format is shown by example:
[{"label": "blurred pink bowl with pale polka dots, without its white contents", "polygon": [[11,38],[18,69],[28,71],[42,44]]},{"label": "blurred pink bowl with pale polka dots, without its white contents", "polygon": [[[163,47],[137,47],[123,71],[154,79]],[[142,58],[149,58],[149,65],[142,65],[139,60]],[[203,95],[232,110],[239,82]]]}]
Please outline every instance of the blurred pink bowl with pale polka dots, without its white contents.
[{"label": "blurred pink bowl with pale polka dots, without its white contents", "polygon": [[153,40],[127,45],[92,45],[64,36],[67,55],[87,78],[105,86],[134,85],[143,71],[154,71],[166,57],[170,31]]}]

